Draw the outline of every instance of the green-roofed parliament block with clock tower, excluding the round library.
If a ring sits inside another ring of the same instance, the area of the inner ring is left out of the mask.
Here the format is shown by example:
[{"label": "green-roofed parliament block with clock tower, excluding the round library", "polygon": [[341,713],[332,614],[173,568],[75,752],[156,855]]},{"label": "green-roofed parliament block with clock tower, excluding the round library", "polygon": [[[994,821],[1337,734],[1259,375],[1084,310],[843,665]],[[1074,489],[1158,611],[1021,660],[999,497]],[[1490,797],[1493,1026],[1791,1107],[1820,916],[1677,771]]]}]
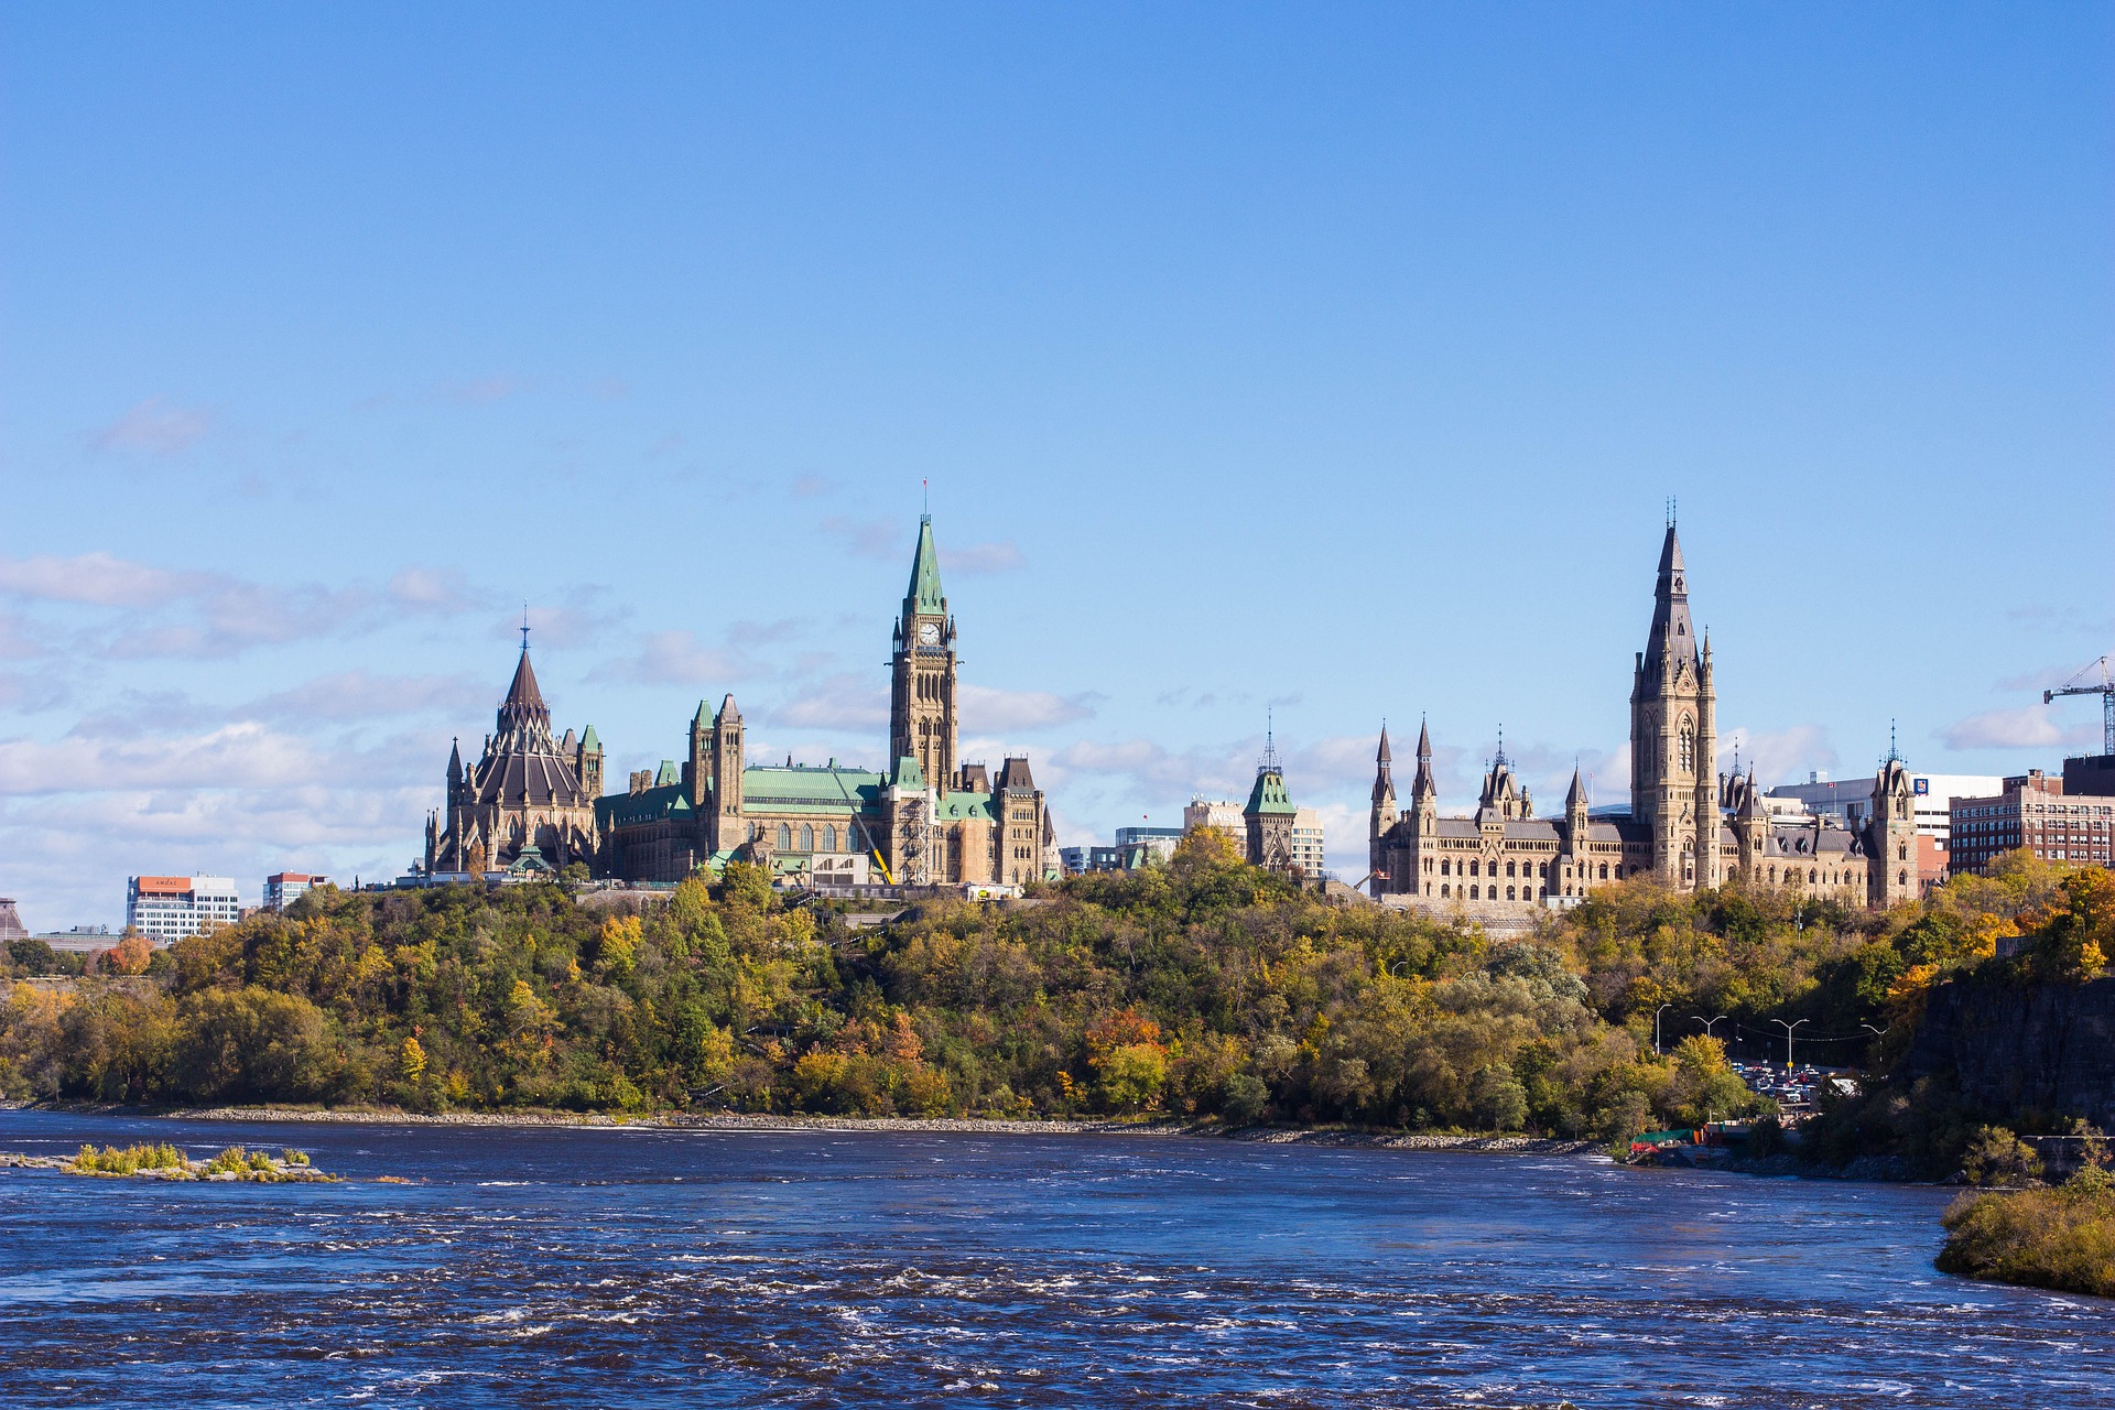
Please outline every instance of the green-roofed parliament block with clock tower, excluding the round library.
[{"label": "green-roofed parliament block with clock tower, excluding the round library", "polygon": [[717,710],[698,702],[681,769],[664,763],[630,793],[601,799],[605,873],[677,882],[740,856],[814,886],[1022,886],[1051,875],[1058,837],[1028,759],[1005,759],[996,780],[960,761],[956,647],[926,516],[893,628],[890,767],[751,763],[734,695]]}]

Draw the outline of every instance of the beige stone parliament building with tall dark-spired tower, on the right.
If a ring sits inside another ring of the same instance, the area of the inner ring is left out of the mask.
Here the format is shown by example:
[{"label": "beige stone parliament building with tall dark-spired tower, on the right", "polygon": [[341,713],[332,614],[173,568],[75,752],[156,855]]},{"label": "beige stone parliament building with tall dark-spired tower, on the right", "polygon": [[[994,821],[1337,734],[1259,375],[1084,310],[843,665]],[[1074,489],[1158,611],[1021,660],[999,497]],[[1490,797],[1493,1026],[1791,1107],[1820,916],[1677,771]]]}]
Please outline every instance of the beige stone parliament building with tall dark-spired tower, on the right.
[{"label": "beige stone parliament building with tall dark-spired tower, on the right", "polygon": [[1476,812],[1442,818],[1432,740],[1419,727],[1411,805],[1398,812],[1383,727],[1368,820],[1371,894],[1387,905],[1495,917],[1578,905],[1595,886],[1635,875],[1675,890],[1741,877],[1872,907],[1916,898],[1912,784],[1893,750],[1876,778],[1874,816],[1857,831],[1827,816],[1772,818],[1753,767],[1747,776],[1717,772],[1715,717],[1711,641],[1696,638],[1688,569],[1669,524],[1652,628],[1631,679],[1629,810],[1588,810],[1574,769],[1563,812],[1538,818],[1500,746]]}]

